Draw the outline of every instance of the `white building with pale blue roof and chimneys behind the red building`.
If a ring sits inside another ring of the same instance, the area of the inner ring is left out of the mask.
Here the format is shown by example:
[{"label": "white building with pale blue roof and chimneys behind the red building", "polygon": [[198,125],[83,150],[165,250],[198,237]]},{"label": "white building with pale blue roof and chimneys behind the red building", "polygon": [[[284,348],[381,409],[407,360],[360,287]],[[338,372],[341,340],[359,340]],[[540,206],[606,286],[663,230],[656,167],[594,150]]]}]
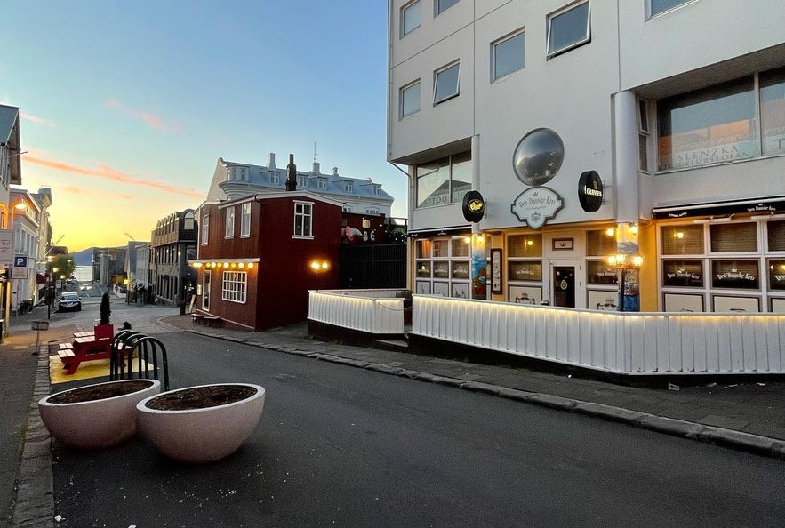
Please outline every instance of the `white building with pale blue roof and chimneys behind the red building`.
[{"label": "white building with pale blue roof and chimneys behind the red building", "polygon": [[[286,188],[286,165],[276,164],[270,153],[267,166],[239,164],[218,158],[207,201],[231,200],[254,193],[279,192]],[[348,178],[338,173],[321,172],[314,162],[310,172],[297,171],[297,190],[305,190],[343,203],[343,210],[361,214],[384,214],[389,218],[394,198],[370,178]]]}]

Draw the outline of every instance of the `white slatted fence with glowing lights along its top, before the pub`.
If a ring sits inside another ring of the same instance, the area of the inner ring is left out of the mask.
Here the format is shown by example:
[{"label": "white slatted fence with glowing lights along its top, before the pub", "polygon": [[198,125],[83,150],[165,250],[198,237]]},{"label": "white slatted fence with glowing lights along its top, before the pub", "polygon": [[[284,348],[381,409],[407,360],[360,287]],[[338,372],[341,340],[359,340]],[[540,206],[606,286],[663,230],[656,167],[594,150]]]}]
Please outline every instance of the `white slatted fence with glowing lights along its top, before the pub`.
[{"label": "white slatted fence with glowing lights along its top, before the pub", "polygon": [[[403,299],[310,292],[308,318],[403,334]],[[785,373],[785,315],[620,313],[414,295],[411,334],[630,375]]]}]

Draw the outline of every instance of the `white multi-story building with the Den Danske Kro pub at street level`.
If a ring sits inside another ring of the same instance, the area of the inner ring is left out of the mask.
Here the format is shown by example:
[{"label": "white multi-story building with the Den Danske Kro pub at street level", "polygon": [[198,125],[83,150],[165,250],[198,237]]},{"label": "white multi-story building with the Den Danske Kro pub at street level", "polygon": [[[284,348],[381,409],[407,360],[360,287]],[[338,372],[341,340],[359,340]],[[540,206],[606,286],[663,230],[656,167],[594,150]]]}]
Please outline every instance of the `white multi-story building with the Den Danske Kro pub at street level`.
[{"label": "white multi-story building with the Den Danske Kro pub at street level", "polygon": [[617,309],[623,277],[643,311],[785,312],[781,0],[390,0],[389,17],[414,292]]}]

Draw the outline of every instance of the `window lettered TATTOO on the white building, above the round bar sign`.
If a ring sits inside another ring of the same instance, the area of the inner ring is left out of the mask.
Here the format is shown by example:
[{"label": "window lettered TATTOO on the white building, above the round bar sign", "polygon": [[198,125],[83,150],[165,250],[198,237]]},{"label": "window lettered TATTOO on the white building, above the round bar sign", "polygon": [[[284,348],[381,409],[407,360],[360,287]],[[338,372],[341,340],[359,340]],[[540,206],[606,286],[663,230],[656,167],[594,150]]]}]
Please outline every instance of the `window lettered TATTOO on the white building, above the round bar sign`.
[{"label": "window lettered TATTOO on the white building, above the round bar sign", "polygon": [[417,165],[417,207],[461,202],[471,190],[471,154],[447,156]]}]

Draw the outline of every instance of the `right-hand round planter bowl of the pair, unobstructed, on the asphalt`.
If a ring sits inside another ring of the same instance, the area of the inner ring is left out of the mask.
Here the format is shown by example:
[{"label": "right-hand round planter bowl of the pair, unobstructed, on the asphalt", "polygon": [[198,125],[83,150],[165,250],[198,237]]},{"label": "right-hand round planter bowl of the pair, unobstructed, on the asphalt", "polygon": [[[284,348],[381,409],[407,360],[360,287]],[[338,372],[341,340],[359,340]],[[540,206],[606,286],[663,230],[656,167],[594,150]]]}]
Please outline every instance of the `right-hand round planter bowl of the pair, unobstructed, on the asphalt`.
[{"label": "right-hand round planter bowl of the pair, unobstructed, on the asphalt", "polygon": [[[157,396],[172,395],[192,388],[234,385],[255,388],[256,393],[230,404],[186,410],[148,407]],[[164,453],[183,462],[212,462],[235,452],[251,436],[261,419],[265,390],[250,383],[212,383],[178,388],[150,396],[136,405],[140,433]]]}]

